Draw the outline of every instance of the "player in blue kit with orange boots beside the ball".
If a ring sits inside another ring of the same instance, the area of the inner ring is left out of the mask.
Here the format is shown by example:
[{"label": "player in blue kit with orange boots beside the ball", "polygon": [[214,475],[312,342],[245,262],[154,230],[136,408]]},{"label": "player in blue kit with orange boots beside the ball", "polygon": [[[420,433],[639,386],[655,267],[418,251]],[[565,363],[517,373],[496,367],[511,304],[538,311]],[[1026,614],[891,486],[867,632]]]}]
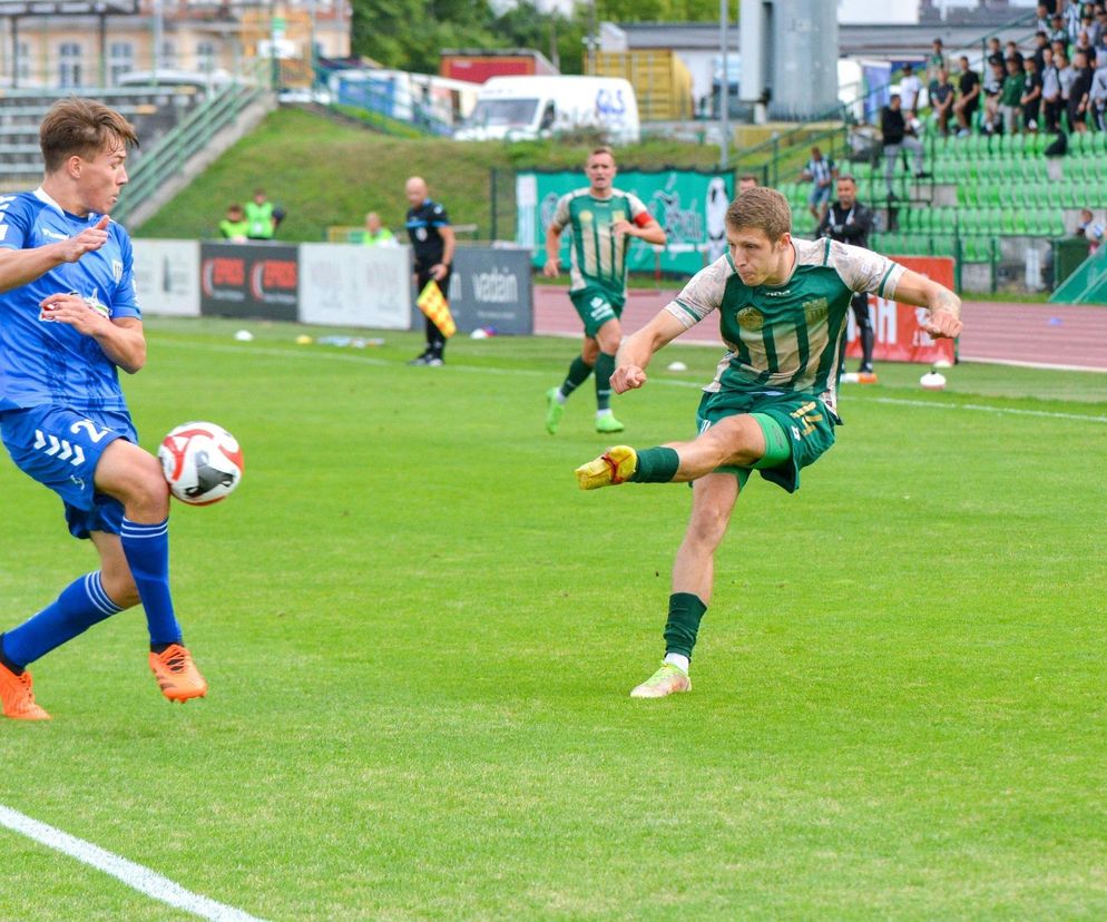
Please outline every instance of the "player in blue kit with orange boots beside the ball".
[{"label": "player in blue kit with orange boots beside the ball", "polygon": [[165,696],[207,692],[169,592],[168,488],[137,444],[117,376],[146,363],[130,239],[108,217],[138,139],[118,112],[69,98],[50,109],[39,141],[42,185],[0,195],[0,438],[17,467],[61,497],[70,533],[91,539],[100,567],[0,635],[0,704],[25,720],[49,718],[27,666],[139,601]]}]

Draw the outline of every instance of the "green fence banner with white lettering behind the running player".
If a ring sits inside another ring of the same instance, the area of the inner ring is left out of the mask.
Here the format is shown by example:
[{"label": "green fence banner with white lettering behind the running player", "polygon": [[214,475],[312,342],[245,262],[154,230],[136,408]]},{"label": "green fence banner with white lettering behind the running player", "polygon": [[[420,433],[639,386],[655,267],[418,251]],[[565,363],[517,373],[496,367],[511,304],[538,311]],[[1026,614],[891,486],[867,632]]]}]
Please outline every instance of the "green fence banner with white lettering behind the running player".
[{"label": "green fence banner with white lettering behind the running player", "polygon": [[[535,266],[546,263],[546,228],[557,200],[587,185],[581,170],[516,175],[516,242],[531,249]],[[733,170],[628,169],[618,173],[615,187],[638,196],[668,235],[664,248],[634,241],[627,257],[630,272],[692,275],[723,255]],[[568,232],[561,236],[561,264],[566,266],[569,237]]]}]

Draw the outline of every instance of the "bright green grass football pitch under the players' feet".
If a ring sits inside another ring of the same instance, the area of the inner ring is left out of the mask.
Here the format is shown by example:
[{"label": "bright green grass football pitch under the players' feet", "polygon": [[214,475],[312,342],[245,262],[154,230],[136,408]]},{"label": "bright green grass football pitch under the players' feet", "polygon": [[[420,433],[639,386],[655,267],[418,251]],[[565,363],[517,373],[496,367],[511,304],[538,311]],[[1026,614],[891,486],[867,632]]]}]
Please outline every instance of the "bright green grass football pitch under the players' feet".
[{"label": "bright green grass football pitch under the players' feet", "polygon": [[[1107,376],[848,386],[803,489],[739,500],[694,692],[638,702],[690,491],[577,490],[574,341],[147,328],[144,444],[210,419],[246,457],[174,510],[209,697],[115,617],[35,666],[52,722],[0,722],[0,804],[273,920],[1107,915]],[[626,441],[690,435],[718,354],[663,353]],[[6,458],[0,503],[8,627],[95,558]],[[190,916],[0,828],[0,918]]]}]

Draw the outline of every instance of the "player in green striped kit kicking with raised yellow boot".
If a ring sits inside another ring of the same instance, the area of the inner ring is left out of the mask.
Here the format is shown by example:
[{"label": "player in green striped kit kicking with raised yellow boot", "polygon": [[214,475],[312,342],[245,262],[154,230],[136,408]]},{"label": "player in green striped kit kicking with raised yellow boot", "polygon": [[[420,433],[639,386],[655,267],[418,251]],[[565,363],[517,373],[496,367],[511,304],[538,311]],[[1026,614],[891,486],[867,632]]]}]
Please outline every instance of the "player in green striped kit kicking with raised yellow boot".
[{"label": "player in green striped kit kicking with raised yellow boot", "polygon": [[692,519],[673,567],[660,668],[630,694],[687,692],[692,650],[711,601],[715,549],[756,470],[790,493],[800,470],[834,443],[845,318],[854,292],[930,308],[931,336],[961,331],[948,288],[880,254],[829,239],[794,241],[791,212],[773,189],[744,192],[726,213],[727,253],[697,273],[620,347],[616,393],[641,388],[650,356],[715,313],[728,352],[699,402],[699,435],[647,449],[616,445],[577,469],[581,489],[624,481],[687,482]]}]

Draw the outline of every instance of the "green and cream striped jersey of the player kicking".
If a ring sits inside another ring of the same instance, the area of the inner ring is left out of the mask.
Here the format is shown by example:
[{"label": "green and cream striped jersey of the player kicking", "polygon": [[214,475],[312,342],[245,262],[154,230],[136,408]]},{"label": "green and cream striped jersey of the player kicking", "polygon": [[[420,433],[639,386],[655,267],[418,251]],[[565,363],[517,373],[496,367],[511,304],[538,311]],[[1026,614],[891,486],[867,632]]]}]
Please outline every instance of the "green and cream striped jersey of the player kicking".
[{"label": "green and cream striped jersey of the player kicking", "polygon": [[666,310],[686,328],[718,312],[729,352],[705,391],[806,392],[835,411],[850,300],[854,292],[891,298],[905,269],[871,249],[829,239],[792,244],[795,268],[783,285],[746,286],[727,253],[696,273]]}]

